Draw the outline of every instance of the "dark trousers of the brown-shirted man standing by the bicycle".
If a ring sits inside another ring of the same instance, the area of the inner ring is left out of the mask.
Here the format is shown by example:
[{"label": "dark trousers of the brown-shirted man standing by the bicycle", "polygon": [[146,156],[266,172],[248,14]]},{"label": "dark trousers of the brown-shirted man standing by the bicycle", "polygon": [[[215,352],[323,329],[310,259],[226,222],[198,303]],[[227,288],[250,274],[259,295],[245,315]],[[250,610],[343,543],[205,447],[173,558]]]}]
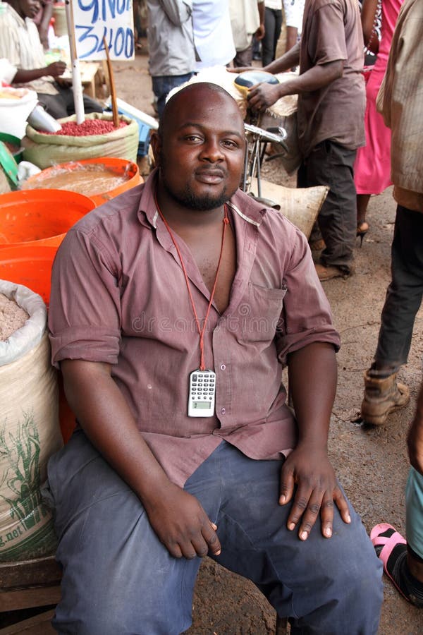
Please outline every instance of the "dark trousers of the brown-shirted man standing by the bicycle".
[{"label": "dark trousers of the brown-shirted man standing by the bicycle", "polygon": [[356,150],[326,140],[313,148],[298,169],[297,186],[329,186],[330,190],[317,219],[326,248],[324,265],[350,272],[357,233],[357,193],[354,185]]}]

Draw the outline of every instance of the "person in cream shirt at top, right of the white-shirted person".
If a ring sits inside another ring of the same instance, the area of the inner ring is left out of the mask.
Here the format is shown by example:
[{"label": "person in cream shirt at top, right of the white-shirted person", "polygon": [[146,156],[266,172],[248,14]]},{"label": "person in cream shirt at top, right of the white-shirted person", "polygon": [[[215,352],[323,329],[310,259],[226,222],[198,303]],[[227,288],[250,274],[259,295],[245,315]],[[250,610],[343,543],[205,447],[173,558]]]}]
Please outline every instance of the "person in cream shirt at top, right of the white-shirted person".
[{"label": "person in cream shirt at top, right of the white-shirted person", "polygon": [[250,66],[253,38],[264,37],[264,1],[229,0],[231,27],[236,55],[234,66]]}]

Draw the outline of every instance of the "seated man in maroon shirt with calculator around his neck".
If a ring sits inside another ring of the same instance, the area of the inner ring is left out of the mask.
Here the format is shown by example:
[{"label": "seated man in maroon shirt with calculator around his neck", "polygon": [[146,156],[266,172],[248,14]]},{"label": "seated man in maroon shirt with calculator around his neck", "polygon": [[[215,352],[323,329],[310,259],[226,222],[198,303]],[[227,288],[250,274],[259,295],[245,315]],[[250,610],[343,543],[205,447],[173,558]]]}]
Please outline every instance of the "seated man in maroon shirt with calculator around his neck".
[{"label": "seated man in maroon shirt with calculator around his neck", "polygon": [[339,337],[305,236],[238,189],[243,119],[221,87],[173,95],[152,147],[146,183],[54,263],[52,358],[79,423],[45,492],[54,627],[185,631],[208,553],[293,633],[376,634],[381,563],[327,456]]}]

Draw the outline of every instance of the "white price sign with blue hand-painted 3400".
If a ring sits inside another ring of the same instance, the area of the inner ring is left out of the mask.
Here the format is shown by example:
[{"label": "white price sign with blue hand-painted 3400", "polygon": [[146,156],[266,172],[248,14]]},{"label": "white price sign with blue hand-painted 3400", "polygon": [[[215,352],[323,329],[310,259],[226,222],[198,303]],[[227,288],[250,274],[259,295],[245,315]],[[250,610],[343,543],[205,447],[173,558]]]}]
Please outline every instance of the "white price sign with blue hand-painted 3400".
[{"label": "white price sign with blue hand-painted 3400", "polygon": [[79,59],[134,59],[133,0],[73,0]]}]

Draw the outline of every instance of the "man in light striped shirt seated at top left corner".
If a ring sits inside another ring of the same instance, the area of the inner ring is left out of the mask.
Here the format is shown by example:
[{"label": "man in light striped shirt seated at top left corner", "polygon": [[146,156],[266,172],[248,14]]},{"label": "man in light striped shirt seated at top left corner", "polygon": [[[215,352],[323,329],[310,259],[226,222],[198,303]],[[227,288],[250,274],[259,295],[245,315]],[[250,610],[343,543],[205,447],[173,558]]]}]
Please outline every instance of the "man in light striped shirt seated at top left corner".
[{"label": "man in light striped shirt seated at top left corner", "polygon": [[[6,11],[0,13],[0,57],[16,66],[11,85],[35,90],[39,103],[55,119],[75,114],[72,88],[60,79],[66,63],[56,61],[46,66],[37,26],[30,19],[41,8],[40,0],[6,1]],[[103,111],[95,99],[87,95],[83,99],[86,113]]]}]

